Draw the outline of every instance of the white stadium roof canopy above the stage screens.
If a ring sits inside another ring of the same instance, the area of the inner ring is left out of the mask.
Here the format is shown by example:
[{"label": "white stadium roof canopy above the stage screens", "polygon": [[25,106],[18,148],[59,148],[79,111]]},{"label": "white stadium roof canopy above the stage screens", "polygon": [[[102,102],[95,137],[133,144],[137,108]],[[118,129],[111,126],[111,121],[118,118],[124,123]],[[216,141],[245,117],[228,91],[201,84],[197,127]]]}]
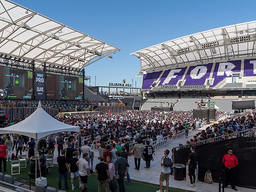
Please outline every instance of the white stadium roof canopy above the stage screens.
[{"label": "white stadium roof canopy above the stage screens", "polygon": [[9,0],[0,0],[0,34],[0,53],[35,60],[36,67],[83,68],[120,50]]}]

